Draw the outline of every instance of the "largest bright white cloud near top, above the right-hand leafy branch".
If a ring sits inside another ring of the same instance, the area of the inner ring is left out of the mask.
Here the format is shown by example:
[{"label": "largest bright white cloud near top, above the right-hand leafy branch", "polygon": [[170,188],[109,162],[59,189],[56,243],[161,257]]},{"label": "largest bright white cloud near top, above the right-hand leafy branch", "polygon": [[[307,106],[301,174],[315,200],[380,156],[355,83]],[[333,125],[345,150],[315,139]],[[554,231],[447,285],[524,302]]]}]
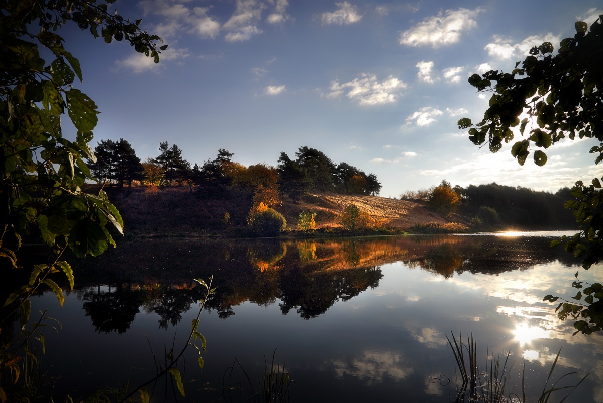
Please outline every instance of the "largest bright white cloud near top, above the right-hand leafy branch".
[{"label": "largest bright white cloud near top, above the right-hand leafy branch", "polygon": [[438,48],[442,45],[456,43],[460,40],[463,31],[468,31],[478,25],[473,18],[481,11],[481,8],[475,10],[459,8],[458,10],[446,10],[444,13],[440,11],[437,16],[428,17],[404,31],[400,36],[400,45],[431,45],[432,48]]}]

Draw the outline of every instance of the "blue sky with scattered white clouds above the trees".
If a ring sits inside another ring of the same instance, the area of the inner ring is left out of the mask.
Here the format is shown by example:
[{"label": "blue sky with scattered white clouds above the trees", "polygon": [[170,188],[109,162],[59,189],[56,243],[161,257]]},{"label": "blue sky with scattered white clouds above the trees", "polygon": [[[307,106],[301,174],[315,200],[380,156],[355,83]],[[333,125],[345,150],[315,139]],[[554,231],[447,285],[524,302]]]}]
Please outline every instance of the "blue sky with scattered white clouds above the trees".
[{"label": "blue sky with scattered white clouds above the trees", "polygon": [[603,175],[592,139],[556,144],[544,167],[531,158],[521,167],[512,144],[492,154],[456,124],[480,121],[488,107],[470,75],[510,72],[545,41],[557,49],[574,22],[603,14],[601,0],[118,0],[111,8],[142,18],[169,46],[155,65],[127,43],[107,45],[77,27],[59,33],[81,62],[84,81],[74,85],[101,111],[92,147],[124,138],[145,160],[168,141],[192,165],[226,148],[246,166],[276,166],[282,151],[295,159],[312,147],[376,174],[384,197],[444,179],[555,192]]}]

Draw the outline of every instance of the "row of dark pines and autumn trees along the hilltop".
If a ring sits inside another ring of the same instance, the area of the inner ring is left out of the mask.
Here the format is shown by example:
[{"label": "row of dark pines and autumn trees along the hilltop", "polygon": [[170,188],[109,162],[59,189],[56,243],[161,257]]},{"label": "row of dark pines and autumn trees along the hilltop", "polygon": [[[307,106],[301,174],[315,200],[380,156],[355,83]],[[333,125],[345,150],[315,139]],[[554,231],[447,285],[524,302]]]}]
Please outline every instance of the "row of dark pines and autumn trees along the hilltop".
[{"label": "row of dark pines and autumn trees along the hilltop", "polygon": [[[188,185],[200,194],[221,194],[224,186],[253,188],[254,201],[267,205],[280,204],[279,194],[297,201],[311,189],[339,193],[377,195],[381,183],[373,173],[365,173],[349,163],[334,163],[322,151],[300,147],[291,159],[280,153],[277,167],[256,163],[245,167],[232,160],[233,153],[221,148],[216,157],[201,166],[183,159],[176,144],[160,142],[159,155],[144,162],[124,139],[101,140],[95,147],[96,162],[90,160],[90,170],[98,179],[131,186],[134,180],[144,185]],[[216,193],[217,192],[217,193]]]}]

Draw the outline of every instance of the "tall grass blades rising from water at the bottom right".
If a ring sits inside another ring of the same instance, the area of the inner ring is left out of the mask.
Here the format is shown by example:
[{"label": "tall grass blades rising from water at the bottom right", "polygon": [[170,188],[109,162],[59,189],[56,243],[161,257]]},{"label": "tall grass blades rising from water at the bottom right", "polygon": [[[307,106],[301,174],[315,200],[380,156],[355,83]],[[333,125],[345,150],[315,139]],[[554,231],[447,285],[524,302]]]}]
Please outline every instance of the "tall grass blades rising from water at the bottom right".
[{"label": "tall grass blades rising from water at the bottom right", "polygon": [[[456,395],[456,403],[463,402],[477,402],[477,403],[509,403],[519,402],[526,403],[525,394],[525,361],[523,361],[522,371],[522,390],[519,395],[516,393],[509,393],[507,396],[507,380],[510,376],[511,368],[514,363],[509,363],[509,357],[511,351],[506,355],[492,355],[489,351],[486,353],[485,370],[480,370],[478,367],[478,342],[473,338],[467,336],[467,343],[463,343],[462,337],[459,335],[458,341],[454,334],[451,333],[452,341],[446,335],[450,349],[456,361],[456,367],[461,376],[461,387]],[[567,399],[567,396],[579,386],[579,384],[586,379],[589,374],[587,373],[584,378],[580,379],[575,385],[558,386],[559,382],[567,376],[575,375],[577,372],[566,373],[561,376],[557,381],[552,382],[553,371],[557,366],[557,360],[561,354],[561,349],[555,357],[549,375],[546,378],[545,386],[542,393],[538,397],[537,403],[548,403],[549,399],[555,392],[565,390],[565,395],[560,403]],[[557,394],[556,394],[557,395]],[[531,400],[530,400],[531,401]]]}]

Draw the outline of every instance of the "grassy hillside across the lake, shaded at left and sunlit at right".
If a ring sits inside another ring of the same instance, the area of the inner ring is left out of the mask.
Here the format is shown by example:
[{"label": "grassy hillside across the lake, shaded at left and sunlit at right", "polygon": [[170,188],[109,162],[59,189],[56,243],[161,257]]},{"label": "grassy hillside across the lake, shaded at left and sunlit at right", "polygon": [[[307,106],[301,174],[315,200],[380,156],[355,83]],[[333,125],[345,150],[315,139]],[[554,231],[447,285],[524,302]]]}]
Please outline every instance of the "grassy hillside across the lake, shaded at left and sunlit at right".
[{"label": "grassy hillside across the lake, shaded at left and sunlit at right", "polygon": [[[245,226],[251,208],[250,201],[236,194],[221,199],[200,198],[183,186],[154,191],[133,186],[106,191],[124,218],[128,236],[213,236],[225,232],[235,235],[237,227]],[[367,212],[380,227],[408,230],[415,224],[449,222],[412,201],[332,192],[314,192],[297,203],[286,199],[276,210],[285,216],[289,229],[295,229],[300,212],[316,213],[317,229],[327,229],[338,226],[337,217],[349,203]],[[230,225],[224,224],[226,213]],[[455,220],[463,222],[460,217]]]}]

